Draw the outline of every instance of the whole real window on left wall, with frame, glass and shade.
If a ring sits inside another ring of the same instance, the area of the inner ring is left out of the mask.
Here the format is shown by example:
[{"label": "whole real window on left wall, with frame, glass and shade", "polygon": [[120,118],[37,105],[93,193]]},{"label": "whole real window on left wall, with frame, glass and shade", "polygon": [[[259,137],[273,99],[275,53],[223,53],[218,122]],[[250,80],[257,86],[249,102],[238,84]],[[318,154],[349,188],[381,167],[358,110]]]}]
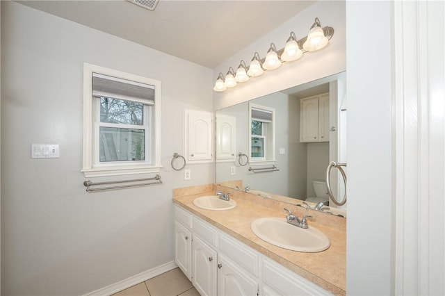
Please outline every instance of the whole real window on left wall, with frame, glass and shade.
[{"label": "whole real window on left wall, with frame, glass and shade", "polygon": [[161,82],[85,64],[83,172],[159,172]]}]

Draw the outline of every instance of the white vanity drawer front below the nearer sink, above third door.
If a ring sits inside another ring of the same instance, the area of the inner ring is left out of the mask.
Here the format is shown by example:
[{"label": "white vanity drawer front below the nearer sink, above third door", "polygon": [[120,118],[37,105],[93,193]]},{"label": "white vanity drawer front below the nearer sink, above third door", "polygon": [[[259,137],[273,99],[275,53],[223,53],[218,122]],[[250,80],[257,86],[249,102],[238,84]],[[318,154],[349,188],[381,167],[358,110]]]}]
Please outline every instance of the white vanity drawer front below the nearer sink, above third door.
[{"label": "white vanity drawer front below the nearer sink, above third door", "polygon": [[259,277],[259,255],[250,247],[220,232],[218,248],[242,268]]}]

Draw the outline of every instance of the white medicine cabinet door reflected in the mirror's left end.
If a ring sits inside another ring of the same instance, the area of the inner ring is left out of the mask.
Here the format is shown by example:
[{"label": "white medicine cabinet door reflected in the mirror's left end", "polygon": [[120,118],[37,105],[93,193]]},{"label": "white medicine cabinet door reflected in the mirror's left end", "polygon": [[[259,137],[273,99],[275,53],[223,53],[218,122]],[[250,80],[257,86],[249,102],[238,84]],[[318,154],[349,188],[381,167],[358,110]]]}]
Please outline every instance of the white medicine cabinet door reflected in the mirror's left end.
[{"label": "white medicine cabinet door reflected in the mirror's left end", "polygon": [[216,115],[216,159],[233,160],[236,150],[236,117]]}]

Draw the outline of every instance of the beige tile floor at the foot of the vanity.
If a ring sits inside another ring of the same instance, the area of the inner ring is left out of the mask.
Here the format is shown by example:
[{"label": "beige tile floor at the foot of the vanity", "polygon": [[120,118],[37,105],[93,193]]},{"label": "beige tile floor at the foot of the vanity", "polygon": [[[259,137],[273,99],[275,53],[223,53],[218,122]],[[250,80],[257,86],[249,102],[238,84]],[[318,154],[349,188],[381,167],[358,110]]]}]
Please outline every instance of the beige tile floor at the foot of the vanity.
[{"label": "beige tile floor at the foot of the vanity", "polygon": [[200,296],[179,268],[113,294],[113,296]]}]

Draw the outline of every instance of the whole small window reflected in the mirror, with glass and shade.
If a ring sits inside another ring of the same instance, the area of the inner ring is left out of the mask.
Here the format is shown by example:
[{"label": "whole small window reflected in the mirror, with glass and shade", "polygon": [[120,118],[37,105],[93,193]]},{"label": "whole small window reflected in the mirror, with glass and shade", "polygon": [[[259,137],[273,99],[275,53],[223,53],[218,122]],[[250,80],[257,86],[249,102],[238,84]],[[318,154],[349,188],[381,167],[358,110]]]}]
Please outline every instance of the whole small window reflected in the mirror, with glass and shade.
[{"label": "whole small window reflected in the mirror, with glass and shade", "polygon": [[250,163],[275,162],[275,109],[249,104]]}]

